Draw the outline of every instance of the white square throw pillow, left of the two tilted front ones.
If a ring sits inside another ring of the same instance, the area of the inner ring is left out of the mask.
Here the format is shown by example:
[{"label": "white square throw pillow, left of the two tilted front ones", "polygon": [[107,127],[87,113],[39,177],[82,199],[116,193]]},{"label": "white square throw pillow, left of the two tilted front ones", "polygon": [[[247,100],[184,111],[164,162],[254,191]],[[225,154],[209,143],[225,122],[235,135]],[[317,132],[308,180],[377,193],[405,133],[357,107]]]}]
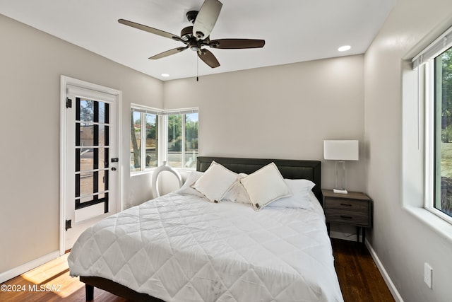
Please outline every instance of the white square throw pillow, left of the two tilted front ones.
[{"label": "white square throw pillow, left of the two tilted front ones", "polygon": [[196,180],[192,187],[201,192],[211,202],[220,202],[225,193],[234,185],[237,177],[237,173],[212,161],[206,172],[203,173],[201,178]]}]

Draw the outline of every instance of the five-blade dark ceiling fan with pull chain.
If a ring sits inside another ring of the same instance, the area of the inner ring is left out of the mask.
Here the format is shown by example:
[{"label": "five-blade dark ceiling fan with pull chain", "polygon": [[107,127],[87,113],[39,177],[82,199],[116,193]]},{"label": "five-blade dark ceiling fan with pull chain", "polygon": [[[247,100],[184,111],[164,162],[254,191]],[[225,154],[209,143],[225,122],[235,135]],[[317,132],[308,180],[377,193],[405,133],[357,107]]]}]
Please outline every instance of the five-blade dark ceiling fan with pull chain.
[{"label": "five-blade dark ceiling fan with pull chain", "polygon": [[212,68],[215,68],[220,66],[220,63],[212,52],[203,48],[204,46],[237,50],[243,48],[259,48],[263,47],[266,43],[265,40],[255,39],[210,40],[210,33],[217,22],[221,8],[222,3],[220,1],[205,0],[199,11],[189,11],[186,13],[186,17],[191,23],[193,23],[193,26],[188,26],[182,29],[180,37],[172,33],[167,33],[163,30],[158,30],[157,28],[151,28],[149,26],[124,19],[119,19],[118,22],[133,28],[138,28],[139,30],[145,30],[148,33],[168,37],[169,39],[182,42],[186,45],[185,47],[177,47],[172,50],[161,52],[160,54],[155,54],[155,56],[150,57],[149,59],[161,59],[163,57],[168,57],[172,54],[177,54],[178,52],[191,49],[198,53],[198,57],[203,60],[204,63],[208,64],[208,66]]}]

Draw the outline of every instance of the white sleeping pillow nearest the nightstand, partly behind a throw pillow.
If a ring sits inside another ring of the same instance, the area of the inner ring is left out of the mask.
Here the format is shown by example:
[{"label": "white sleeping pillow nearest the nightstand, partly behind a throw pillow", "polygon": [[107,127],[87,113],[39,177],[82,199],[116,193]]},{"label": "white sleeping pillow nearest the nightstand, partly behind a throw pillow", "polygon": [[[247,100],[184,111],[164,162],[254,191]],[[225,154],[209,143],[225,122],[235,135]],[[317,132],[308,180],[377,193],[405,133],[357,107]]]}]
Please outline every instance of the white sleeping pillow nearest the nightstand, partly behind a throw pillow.
[{"label": "white sleeping pillow nearest the nightstand, partly behind a throw pillow", "polygon": [[311,197],[309,196],[309,192],[312,192],[312,188],[316,185],[314,182],[303,179],[285,179],[284,182],[290,188],[293,195],[275,200],[275,202],[268,204],[268,207],[314,209]]}]

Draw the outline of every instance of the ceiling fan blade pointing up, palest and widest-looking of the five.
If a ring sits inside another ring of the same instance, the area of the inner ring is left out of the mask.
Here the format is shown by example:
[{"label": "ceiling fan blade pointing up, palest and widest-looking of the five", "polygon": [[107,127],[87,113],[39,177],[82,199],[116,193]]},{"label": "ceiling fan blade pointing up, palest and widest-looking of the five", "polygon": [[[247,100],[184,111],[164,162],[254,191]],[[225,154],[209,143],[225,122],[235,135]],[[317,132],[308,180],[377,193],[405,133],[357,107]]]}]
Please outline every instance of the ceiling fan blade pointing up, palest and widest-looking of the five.
[{"label": "ceiling fan blade pointing up, palest and widest-looking of the five", "polygon": [[218,0],[205,0],[199,9],[193,25],[193,35],[198,40],[204,40],[210,35],[213,26],[220,16],[222,3]]}]

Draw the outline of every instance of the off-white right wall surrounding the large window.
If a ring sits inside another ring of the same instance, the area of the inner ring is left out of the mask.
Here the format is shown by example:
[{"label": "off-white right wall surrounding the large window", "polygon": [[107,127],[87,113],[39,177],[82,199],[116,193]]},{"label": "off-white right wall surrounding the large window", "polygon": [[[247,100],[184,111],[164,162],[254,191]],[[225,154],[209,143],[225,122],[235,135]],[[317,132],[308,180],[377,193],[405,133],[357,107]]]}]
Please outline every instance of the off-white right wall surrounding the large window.
[{"label": "off-white right wall surrounding the large window", "polygon": [[[427,46],[429,38],[424,37],[452,25],[451,11],[450,0],[397,1],[365,54],[367,192],[374,199],[374,228],[368,239],[404,301],[451,301],[451,226],[435,231],[426,222],[436,218],[427,215],[423,221],[408,211],[412,204],[422,207],[423,153],[413,133],[417,117],[406,112],[417,111],[412,108],[417,104],[412,99],[417,75],[403,62]],[[433,289],[424,284],[424,262],[434,269]]]}]

